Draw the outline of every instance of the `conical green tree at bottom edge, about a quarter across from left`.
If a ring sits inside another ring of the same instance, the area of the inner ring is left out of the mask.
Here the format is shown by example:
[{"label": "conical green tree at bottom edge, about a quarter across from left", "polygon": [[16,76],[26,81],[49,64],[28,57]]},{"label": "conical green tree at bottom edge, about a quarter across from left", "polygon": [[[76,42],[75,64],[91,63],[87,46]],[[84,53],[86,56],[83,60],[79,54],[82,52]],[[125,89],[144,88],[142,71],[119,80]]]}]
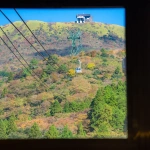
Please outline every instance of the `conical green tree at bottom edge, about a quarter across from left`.
[{"label": "conical green tree at bottom edge, about a quarter across from left", "polygon": [[40,138],[41,131],[37,123],[34,123],[29,132],[29,138]]}]

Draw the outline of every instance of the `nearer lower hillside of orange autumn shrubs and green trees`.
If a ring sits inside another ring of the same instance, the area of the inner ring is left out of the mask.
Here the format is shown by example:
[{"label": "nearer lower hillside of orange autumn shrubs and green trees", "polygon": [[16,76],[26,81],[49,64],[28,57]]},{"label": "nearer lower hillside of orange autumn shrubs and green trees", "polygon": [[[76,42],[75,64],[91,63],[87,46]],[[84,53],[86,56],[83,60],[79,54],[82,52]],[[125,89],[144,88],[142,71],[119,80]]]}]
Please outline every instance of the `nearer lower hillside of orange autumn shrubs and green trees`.
[{"label": "nearer lower hillside of orange autumn shrubs and green trees", "polygon": [[53,54],[46,61],[32,58],[28,70],[41,82],[21,65],[12,71],[7,63],[0,70],[0,138],[126,138],[124,56],[124,50],[99,48],[77,56]]}]

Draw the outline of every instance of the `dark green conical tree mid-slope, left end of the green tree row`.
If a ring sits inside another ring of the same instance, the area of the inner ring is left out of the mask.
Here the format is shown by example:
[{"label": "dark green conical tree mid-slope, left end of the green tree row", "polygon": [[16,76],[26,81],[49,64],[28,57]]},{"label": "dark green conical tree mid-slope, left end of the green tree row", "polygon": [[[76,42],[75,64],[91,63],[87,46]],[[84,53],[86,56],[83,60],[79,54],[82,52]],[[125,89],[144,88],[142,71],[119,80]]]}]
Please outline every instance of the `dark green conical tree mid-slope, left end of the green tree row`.
[{"label": "dark green conical tree mid-slope, left end of the green tree row", "polygon": [[60,113],[61,111],[62,107],[60,106],[59,102],[55,100],[55,102],[50,107],[50,114],[54,116],[55,113]]}]

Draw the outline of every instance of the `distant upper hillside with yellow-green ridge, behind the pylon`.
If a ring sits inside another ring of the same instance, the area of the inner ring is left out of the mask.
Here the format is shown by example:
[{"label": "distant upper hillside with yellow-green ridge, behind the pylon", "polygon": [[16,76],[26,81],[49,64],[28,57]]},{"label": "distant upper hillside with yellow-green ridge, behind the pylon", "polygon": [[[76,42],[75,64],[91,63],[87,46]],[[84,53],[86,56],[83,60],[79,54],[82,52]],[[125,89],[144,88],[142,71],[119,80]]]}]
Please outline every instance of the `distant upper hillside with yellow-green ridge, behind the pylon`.
[{"label": "distant upper hillside with yellow-green ridge, behind the pylon", "polygon": [[[39,43],[32,36],[27,27],[20,21],[14,22],[14,25],[23,33],[23,35],[36,47],[36,49],[47,56]],[[125,28],[118,25],[109,25],[104,23],[47,23],[42,21],[27,21],[35,36],[50,54],[58,54],[66,56],[70,54],[71,41],[67,39],[68,30],[73,28],[80,29],[82,32],[82,50],[121,50],[125,49]],[[42,59],[35,49],[22,37],[22,35],[8,24],[2,26],[3,30],[9,36],[15,47],[19,50],[26,60],[37,58]],[[3,32],[0,30],[0,36],[7,41],[9,47],[12,48]],[[78,43],[77,43],[78,44]],[[15,51],[14,48],[12,50]],[[20,65],[15,56],[10,53],[5,44],[0,40],[0,69],[3,66],[10,71],[17,71]],[[18,67],[16,67],[18,66]]]}]

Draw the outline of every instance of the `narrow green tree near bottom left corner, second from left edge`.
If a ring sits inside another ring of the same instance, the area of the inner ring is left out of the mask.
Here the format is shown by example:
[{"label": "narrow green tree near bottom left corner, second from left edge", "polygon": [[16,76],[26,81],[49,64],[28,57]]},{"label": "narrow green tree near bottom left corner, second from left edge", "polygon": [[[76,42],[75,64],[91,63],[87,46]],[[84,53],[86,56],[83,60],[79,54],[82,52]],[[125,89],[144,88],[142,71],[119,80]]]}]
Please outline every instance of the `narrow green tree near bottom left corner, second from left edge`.
[{"label": "narrow green tree near bottom left corner, second from left edge", "polygon": [[8,134],[17,131],[17,126],[16,126],[16,123],[15,123],[15,120],[16,120],[15,116],[11,115],[11,117],[8,120],[8,128],[7,128],[7,133]]}]

